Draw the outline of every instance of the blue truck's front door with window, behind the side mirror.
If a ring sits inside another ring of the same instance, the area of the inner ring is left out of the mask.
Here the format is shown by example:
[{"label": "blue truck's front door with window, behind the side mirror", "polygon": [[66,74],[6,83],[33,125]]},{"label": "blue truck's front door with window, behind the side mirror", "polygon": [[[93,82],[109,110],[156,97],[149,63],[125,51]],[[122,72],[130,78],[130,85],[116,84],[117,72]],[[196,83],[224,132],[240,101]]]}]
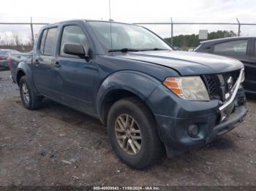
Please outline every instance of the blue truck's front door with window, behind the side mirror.
[{"label": "blue truck's front door with window, behind the side mirror", "polygon": [[94,58],[80,58],[63,51],[65,43],[83,45],[83,49],[92,50],[92,44],[83,25],[70,24],[61,28],[56,64],[53,65],[53,84],[61,87],[60,101],[80,111],[94,114]]}]

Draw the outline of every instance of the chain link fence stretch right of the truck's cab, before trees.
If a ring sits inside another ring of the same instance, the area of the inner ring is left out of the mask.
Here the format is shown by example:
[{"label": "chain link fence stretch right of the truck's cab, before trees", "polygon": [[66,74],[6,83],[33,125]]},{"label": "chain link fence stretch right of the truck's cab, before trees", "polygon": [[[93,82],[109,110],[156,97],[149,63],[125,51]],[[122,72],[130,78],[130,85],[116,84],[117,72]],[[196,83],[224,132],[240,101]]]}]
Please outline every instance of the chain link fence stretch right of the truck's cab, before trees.
[{"label": "chain link fence stretch right of the truck's cab, before trees", "polygon": [[[219,22],[216,19],[174,19],[163,22],[135,22],[160,34],[169,44],[178,50],[193,50],[201,41],[232,36],[256,36],[256,22],[249,19],[228,19]],[[169,31],[169,34],[163,33]],[[200,30],[208,31],[207,39],[199,39]],[[162,35],[161,35],[162,34]]]}]

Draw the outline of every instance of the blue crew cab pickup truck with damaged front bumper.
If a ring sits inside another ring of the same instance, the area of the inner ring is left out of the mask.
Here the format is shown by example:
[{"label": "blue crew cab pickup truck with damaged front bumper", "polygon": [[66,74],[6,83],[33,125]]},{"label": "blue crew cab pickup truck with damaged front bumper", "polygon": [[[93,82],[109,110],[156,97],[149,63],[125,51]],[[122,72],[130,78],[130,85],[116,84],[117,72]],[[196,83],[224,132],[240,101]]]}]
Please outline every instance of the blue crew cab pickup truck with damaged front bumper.
[{"label": "blue crew cab pickup truck with damaged front bumper", "polygon": [[71,20],[44,26],[11,67],[27,109],[50,98],[99,119],[116,155],[143,169],[227,133],[246,116],[244,66],[175,51],[141,26]]}]

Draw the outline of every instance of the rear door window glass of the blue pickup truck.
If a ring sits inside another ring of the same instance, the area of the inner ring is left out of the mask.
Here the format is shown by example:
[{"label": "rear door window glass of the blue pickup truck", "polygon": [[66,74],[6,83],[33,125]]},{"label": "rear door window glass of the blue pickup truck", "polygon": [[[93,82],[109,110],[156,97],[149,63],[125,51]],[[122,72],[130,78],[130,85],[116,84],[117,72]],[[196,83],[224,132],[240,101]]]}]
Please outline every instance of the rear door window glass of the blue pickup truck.
[{"label": "rear door window glass of the blue pickup truck", "polygon": [[56,40],[57,28],[49,28],[45,39],[44,55],[53,55],[53,45]]}]

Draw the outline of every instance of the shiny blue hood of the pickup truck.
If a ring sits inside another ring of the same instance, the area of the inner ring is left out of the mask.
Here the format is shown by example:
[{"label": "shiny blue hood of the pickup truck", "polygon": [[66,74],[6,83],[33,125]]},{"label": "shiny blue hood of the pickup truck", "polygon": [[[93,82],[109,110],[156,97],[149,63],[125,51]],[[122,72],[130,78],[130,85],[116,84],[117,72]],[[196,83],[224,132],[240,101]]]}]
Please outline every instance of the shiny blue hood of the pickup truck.
[{"label": "shiny blue hood of the pickup truck", "polygon": [[128,52],[125,55],[116,55],[116,57],[166,66],[184,76],[218,74],[243,67],[243,63],[233,58],[176,50]]}]

